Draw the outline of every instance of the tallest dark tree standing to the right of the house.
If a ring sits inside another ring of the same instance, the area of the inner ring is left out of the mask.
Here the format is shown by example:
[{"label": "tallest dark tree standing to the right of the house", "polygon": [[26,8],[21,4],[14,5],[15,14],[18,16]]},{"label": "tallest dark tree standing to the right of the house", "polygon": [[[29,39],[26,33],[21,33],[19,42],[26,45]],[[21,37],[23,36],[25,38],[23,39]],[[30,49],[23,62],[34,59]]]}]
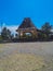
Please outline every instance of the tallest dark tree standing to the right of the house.
[{"label": "tallest dark tree standing to the right of the house", "polygon": [[45,23],[42,27],[41,27],[42,32],[47,35],[47,38],[49,38],[49,35],[51,34],[51,29],[52,26],[50,25],[50,23]]}]

